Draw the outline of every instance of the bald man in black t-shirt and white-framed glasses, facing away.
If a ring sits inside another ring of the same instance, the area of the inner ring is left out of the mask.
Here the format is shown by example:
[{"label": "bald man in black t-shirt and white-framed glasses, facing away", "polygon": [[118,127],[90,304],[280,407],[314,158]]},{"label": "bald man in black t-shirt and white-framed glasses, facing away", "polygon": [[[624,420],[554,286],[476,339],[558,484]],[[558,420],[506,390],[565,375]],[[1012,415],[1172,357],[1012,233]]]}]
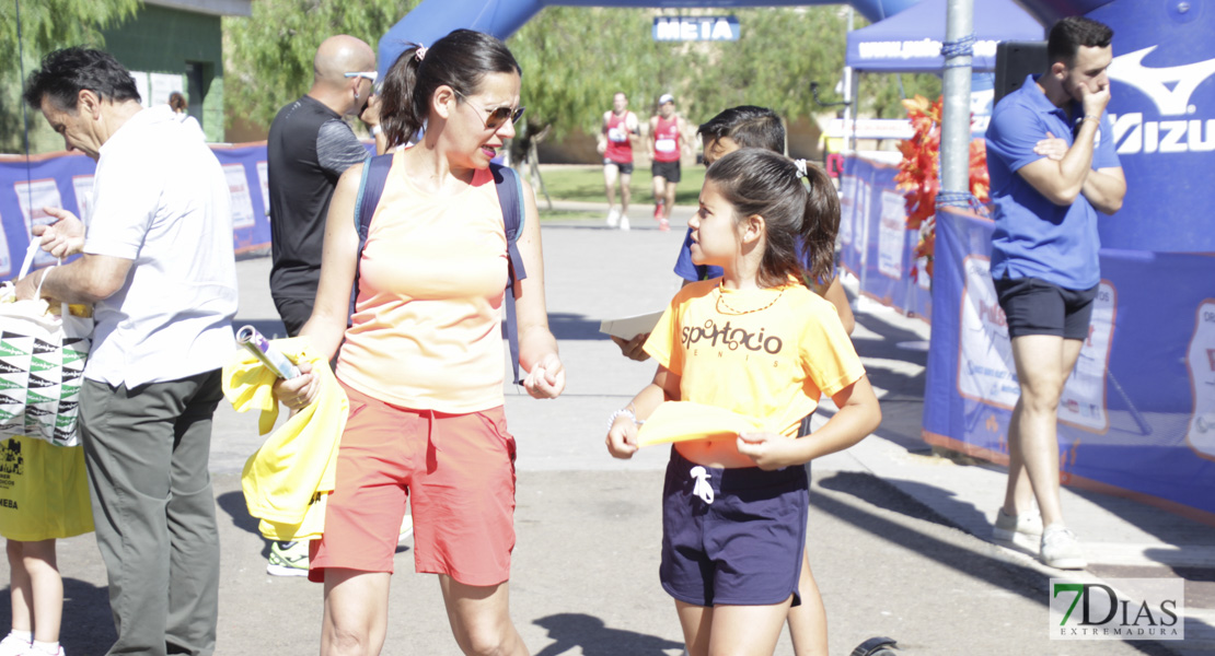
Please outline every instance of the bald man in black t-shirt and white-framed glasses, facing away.
[{"label": "bald man in black t-shirt and white-framed glasses, facing away", "polygon": [[294,337],[312,314],[321,246],[338,178],[367,158],[345,116],[358,115],[375,81],[375,52],[346,35],[326,39],[312,87],[278,110],[266,143],[273,267],[270,295]]}]

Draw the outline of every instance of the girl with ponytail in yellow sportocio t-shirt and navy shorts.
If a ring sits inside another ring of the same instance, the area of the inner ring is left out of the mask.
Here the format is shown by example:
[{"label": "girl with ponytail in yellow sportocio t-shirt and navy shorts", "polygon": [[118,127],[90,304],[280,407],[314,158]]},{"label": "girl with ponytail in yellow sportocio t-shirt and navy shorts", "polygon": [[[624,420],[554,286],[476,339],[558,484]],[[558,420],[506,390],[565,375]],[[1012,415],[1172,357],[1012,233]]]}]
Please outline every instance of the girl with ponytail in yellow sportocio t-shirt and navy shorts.
[{"label": "girl with ponytail in yellow sportocio t-shirt and navy shorts", "polygon": [[[691,257],[723,274],[676,295],[645,343],[659,361],[654,382],[612,413],[606,441],[620,458],[637,451],[638,422],[663,400],[724,407],[770,430],[672,449],[660,577],[693,656],[775,650],[801,603],[808,495],[799,466],[881,422],[840,315],[807,287],[830,279],[838,222],[831,181],[804,161],[755,148],[718,160],[690,221]],[[840,411],[799,435],[824,392]]]}]

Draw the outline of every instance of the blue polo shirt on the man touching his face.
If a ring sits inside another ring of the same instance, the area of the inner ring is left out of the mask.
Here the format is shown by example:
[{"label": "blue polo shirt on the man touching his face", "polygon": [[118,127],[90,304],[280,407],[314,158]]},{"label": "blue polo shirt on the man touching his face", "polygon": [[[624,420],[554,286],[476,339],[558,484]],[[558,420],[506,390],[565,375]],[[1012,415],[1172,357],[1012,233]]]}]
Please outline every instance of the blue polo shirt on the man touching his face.
[{"label": "blue polo shirt on the man touching his face", "polygon": [[[991,278],[1039,278],[1069,290],[1086,290],[1101,281],[1097,251],[1097,210],[1080,195],[1059,206],[1017,175],[1022,166],[1042,159],[1034,144],[1046,132],[1067,141],[1070,148],[1084,119],[1074,103],[1069,121],[1038,89],[1034,75],[1021,89],[1000,99],[987,131],[988,175],[995,205],[991,235]],[[1107,114],[1101,115],[1092,149],[1092,167],[1121,166]]]}]

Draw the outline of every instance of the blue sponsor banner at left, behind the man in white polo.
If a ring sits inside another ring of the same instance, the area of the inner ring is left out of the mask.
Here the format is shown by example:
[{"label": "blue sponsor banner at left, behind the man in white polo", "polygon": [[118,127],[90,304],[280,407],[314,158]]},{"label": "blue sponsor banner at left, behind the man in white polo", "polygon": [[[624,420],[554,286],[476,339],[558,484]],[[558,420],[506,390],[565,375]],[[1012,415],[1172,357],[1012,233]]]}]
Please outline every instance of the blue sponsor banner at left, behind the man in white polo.
[{"label": "blue sponsor banner at left, behind the man in white polo", "polygon": [[[368,150],[374,144],[363,144]],[[232,247],[238,255],[270,249],[266,144],[211,146],[232,196]],[[0,156],[0,278],[17,274],[29,246],[30,227],[53,223],[44,207],[63,207],[87,221],[96,162],[79,153]],[[39,252],[35,267],[53,261]]]}]

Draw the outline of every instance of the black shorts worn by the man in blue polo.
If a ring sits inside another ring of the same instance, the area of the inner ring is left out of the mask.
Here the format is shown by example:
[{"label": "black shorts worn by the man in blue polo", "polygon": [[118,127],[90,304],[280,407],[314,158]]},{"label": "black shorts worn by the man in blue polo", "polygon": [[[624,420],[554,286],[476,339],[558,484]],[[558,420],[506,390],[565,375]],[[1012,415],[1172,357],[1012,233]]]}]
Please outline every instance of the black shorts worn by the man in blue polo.
[{"label": "black shorts worn by the man in blue polo", "polygon": [[1100,285],[1069,290],[1040,278],[1001,278],[993,283],[1008,321],[1008,338],[1022,335],[1055,335],[1064,340],[1089,337],[1092,301]]}]

